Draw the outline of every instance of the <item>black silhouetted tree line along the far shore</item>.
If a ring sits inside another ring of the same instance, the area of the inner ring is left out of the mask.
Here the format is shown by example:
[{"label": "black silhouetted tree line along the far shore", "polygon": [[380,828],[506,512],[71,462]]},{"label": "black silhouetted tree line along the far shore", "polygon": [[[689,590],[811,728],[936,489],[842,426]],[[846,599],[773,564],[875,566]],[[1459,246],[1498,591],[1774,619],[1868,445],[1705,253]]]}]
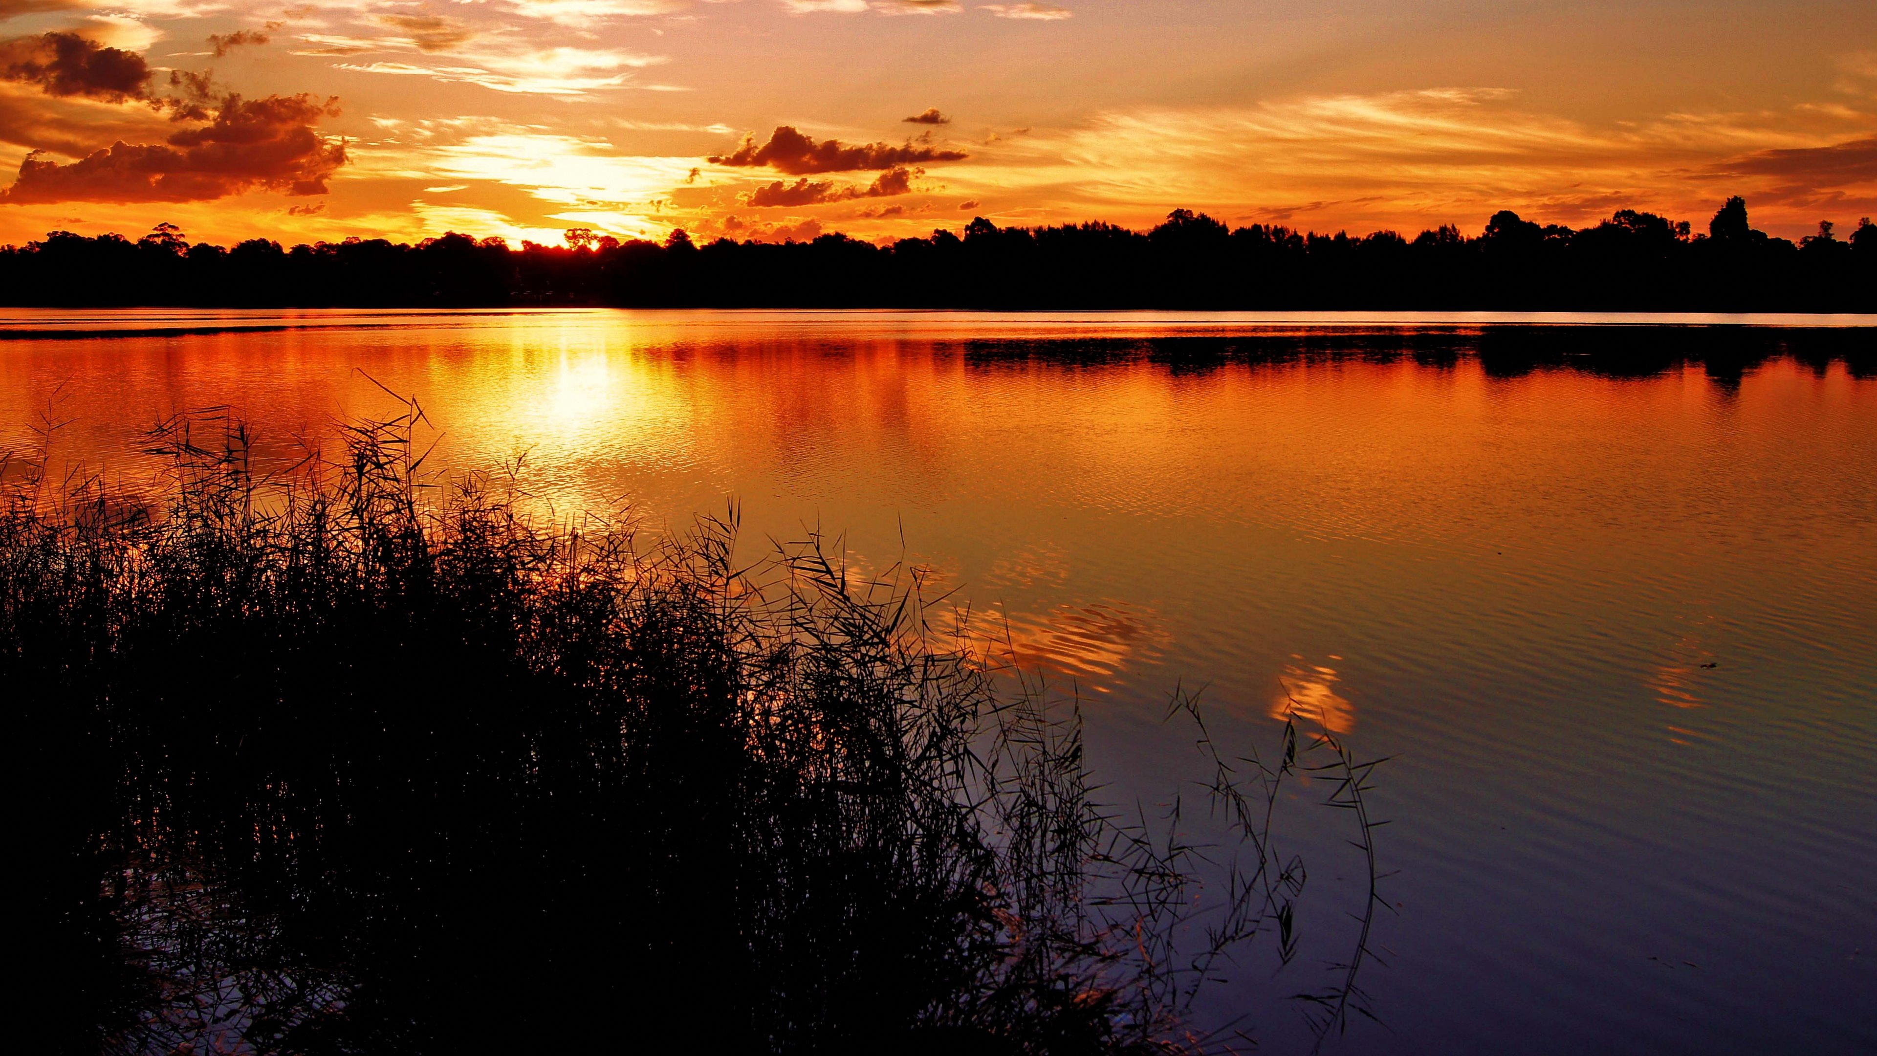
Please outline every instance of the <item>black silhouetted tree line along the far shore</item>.
[{"label": "black silhouetted tree line along the far shore", "polygon": [[644,308],[1237,308],[1877,312],[1877,225],[1798,242],[1751,227],[1729,199],[1704,231],[1633,209],[1592,227],[1494,214],[1321,235],[1231,229],[1173,210],[1151,231],[1092,222],[873,244],[698,246],[567,231],[565,246],[449,233],[419,244],[345,239],[283,248],[188,242],[171,224],[130,241],[53,231],[0,248],[8,306],[644,306]]}]

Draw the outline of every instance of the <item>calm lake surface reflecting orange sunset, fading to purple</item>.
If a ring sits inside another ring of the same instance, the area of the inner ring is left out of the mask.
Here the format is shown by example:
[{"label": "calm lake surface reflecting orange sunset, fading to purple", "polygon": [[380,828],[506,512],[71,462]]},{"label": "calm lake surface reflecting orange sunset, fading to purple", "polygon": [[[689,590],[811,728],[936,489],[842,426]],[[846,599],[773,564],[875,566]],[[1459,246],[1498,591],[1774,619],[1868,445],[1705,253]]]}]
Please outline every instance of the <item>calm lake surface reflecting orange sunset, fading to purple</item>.
[{"label": "calm lake surface reflecting orange sunset, fading to purple", "polygon": [[[751,554],[820,526],[933,567],[1083,695],[1117,800],[1192,772],[1181,680],[1228,735],[1291,697],[1393,755],[1381,1024],[1333,1048],[1877,1050],[1877,380],[1505,368],[1492,321],[6,312],[36,340],[0,340],[0,449],[51,406],[54,458],[135,481],[161,415],[227,404],[285,451],[383,383],[441,466],[526,455],[557,511],[738,502]],[[1305,955],[1209,1005],[1273,1050],[1361,908],[1306,806]]]}]

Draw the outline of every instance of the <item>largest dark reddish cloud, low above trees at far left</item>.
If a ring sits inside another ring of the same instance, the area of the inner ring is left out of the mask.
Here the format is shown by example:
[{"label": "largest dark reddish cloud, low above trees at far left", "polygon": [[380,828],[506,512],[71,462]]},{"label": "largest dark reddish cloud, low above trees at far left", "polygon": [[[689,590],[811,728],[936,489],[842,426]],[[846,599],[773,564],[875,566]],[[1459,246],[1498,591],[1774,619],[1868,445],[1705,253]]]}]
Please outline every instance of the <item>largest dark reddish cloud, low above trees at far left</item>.
[{"label": "largest dark reddish cloud, low above trees at far left", "polygon": [[28,156],[0,203],[32,201],[206,201],[250,190],[327,194],[345,163],[345,145],[313,132],[338,100],[313,96],[227,96],[214,122],[169,137],[167,145],[113,143],[60,165]]}]

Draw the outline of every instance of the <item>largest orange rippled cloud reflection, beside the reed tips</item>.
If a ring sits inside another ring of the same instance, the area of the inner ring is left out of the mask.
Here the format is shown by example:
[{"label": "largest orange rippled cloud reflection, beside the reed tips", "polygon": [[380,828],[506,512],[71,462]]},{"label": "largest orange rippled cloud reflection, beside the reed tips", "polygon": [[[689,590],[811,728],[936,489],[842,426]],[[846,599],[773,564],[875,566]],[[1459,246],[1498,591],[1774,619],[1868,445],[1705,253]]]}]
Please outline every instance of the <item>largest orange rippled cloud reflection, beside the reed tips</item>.
[{"label": "largest orange rippled cloud reflection, beside the reed tips", "polygon": [[1171,635],[1152,609],[1126,601],[1055,605],[1044,613],[1004,613],[1002,626],[991,629],[1004,639],[993,648],[1006,652],[1017,667],[1059,671],[1107,693],[1104,680],[1130,661],[1158,660]]}]

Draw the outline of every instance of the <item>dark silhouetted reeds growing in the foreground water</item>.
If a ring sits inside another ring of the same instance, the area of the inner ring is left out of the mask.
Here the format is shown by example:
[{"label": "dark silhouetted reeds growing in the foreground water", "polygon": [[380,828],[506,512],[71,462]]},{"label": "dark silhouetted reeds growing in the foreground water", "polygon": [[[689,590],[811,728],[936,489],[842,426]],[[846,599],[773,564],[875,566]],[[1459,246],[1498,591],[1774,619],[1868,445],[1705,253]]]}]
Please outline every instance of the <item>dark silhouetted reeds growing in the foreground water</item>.
[{"label": "dark silhouetted reeds growing in the foreground water", "polygon": [[1175,691],[1184,806],[1109,810],[1074,697],[918,569],[537,522],[420,427],[282,457],[205,412],[141,498],[49,475],[51,419],[6,466],[23,1047],[1224,1050],[1188,1013],[1297,956],[1299,793],[1368,861],[1299,1007],[1365,1013],[1374,763],[1327,731],[1259,761]]}]

